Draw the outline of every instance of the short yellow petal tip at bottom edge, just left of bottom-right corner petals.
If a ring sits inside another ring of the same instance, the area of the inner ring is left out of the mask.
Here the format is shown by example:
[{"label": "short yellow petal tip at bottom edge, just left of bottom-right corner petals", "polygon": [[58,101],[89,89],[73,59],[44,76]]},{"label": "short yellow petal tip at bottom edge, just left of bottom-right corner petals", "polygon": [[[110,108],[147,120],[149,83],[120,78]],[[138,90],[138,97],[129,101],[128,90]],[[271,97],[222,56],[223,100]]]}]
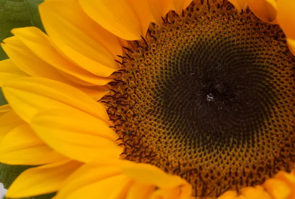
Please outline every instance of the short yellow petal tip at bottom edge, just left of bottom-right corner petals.
[{"label": "short yellow petal tip at bottom edge, just left of bottom-right corner petals", "polygon": [[246,199],[271,199],[271,196],[266,192],[263,186],[246,187],[241,189],[240,193]]}]

